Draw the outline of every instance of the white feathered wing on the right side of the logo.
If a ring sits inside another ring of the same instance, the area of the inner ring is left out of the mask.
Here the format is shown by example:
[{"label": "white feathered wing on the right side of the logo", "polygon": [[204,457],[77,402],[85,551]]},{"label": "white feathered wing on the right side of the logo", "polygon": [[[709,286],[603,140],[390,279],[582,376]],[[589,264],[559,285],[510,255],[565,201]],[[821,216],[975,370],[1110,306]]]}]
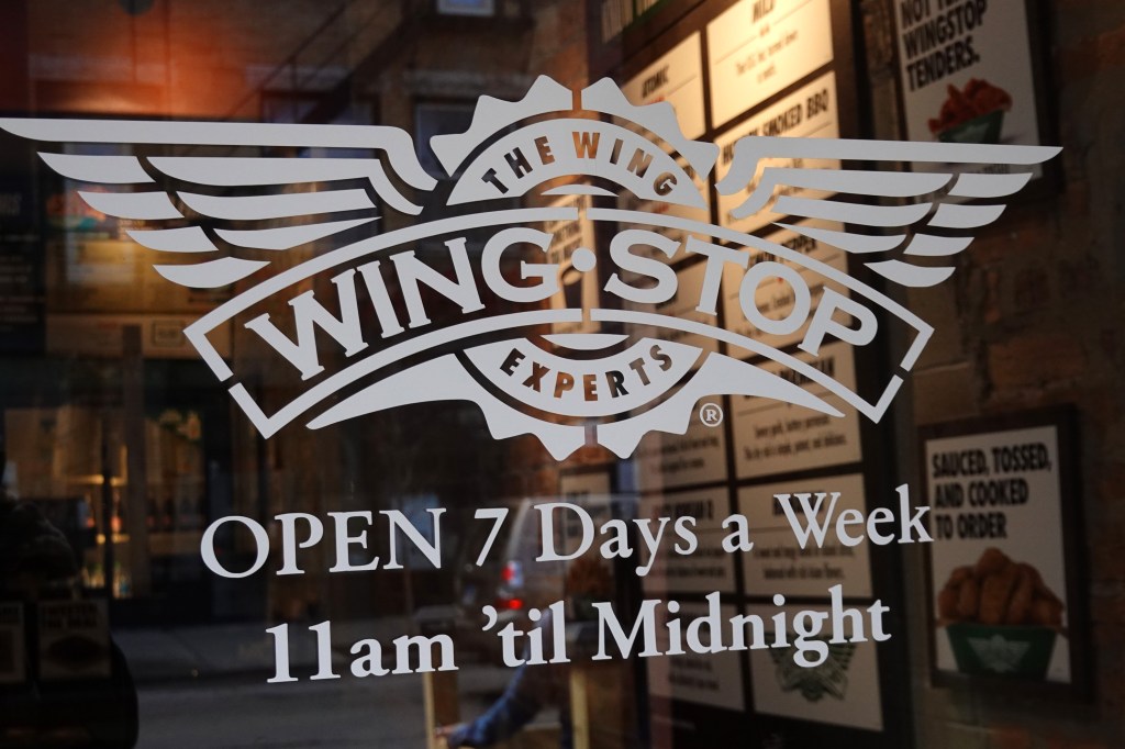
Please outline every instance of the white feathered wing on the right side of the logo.
[{"label": "white feathered wing on the right side of the logo", "polygon": [[[736,219],[759,211],[773,214],[777,226],[850,253],[870,254],[865,264],[896,283],[927,287],[947,279],[953,265],[914,261],[950,258],[968,247],[978,229],[1004,213],[1004,198],[1018,192],[1030,180],[1034,166],[1060,151],[1053,146],[750,136],[735,144],[730,169],[717,188],[724,196],[748,192],[730,211]],[[802,166],[824,160],[920,162],[933,171]],[[980,164],[988,164],[988,170],[981,172]],[[839,222],[848,231],[795,223],[802,218]]]}]

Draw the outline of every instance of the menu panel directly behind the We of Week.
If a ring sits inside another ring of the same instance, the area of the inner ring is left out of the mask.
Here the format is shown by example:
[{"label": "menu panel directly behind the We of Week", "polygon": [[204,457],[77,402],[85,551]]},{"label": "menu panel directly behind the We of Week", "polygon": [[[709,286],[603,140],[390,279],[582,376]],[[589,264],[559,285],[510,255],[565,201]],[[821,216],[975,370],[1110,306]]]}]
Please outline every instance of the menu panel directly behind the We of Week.
[{"label": "menu panel directly behind the We of Week", "polygon": [[[858,473],[828,476],[817,479],[798,479],[778,484],[745,487],[738,493],[738,512],[746,516],[753,529],[754,549],[744,556],[742,575],[746,595],[825,596],[828,588],[843,585],[848,596],[871,596],[871,561],[868,542],[855,547],[839,543],[828,534],[822,545],[809,543],[802,549],[789,524],[782,505],[774,495],[809,493],[827,496],[820,505],[818,522],[824,522],[831,505],[831,496],[839,493],[832,517],[845,509],[866,513],[863,477]],[[803,518],[800,502],[790,500],[799,517]]]}]

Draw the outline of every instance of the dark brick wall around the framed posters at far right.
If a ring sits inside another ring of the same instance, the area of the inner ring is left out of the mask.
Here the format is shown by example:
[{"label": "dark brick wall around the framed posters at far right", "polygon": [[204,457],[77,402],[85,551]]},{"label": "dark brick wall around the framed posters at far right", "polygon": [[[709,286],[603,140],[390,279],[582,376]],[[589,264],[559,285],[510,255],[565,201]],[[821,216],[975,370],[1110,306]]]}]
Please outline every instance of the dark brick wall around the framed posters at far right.
[{"label": "dark brick wall around the framed posters at far right", "polygon": [[[893,19],[868,2],[875,51]],[[1029,3],[1036,4],[1034,2]],[[958,749],[1125,746],[1125,3],[1053,0],[1047,89],[1063,146],[1061,190],[1010,207],[958,256],[950,282],[907,303],[937,333],[912,378],[912,416],[900,414],[903,471],[916,485],[915,426],[1054,404],[1079,413],[1084,593],[1091,615],[1094,700],[1072,704],[996,691],[929,686],[925,601],[909,601],[919,747]],[[875,101],[893,102],[885,60]],[[882,63],[882,64],[881,64]],[[894,107],[876,107],[876,135],[898,137]],[[910,404],[906,404],[910,405]],[[902,409],[908,412],[909,408]],[[925,589],[920,552],[908,590]]]}]

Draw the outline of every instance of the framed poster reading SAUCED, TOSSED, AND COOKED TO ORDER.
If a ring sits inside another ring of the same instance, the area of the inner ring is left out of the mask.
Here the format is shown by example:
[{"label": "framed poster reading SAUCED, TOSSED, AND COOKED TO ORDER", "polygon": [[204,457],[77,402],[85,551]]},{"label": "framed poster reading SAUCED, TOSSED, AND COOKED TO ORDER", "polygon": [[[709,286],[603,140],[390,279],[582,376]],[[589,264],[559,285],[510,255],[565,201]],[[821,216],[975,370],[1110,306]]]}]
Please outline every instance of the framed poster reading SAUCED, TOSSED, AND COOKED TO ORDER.
[{"label": "framed poster reading SAUCED, TOSSED, AND COOKED TO ORDER", "polygon": [[1072,414],[924,427],[937,683],[1086,689]]}]

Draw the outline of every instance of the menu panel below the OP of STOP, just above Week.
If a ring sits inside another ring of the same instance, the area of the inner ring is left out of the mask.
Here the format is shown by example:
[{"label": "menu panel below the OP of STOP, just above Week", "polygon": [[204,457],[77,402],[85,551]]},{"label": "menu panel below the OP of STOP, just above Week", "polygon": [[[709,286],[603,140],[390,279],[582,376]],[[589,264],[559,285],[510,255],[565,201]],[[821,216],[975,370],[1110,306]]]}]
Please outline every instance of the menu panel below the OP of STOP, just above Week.
[{"label": "menu panel below the OP of STOP, just above Week", "polygon": [[[802,361],[812,357],[799,351]],[[766,361],[762,369],[798,377],[783,364]],[[817,367],[826,374],[855,390],[855,350],[842,342],[820,348]],[[784,376],[784,374],[783,374]],[[773,473],[840,466],[857,462],[860,449],[860,414],[844,399],[821,385],[799,381],[801,387],[837,407],[844,416],[829,416],[778,400],[747,396],[731,397],[735,412],[735,470],[738,478],[755,478]]]}]

